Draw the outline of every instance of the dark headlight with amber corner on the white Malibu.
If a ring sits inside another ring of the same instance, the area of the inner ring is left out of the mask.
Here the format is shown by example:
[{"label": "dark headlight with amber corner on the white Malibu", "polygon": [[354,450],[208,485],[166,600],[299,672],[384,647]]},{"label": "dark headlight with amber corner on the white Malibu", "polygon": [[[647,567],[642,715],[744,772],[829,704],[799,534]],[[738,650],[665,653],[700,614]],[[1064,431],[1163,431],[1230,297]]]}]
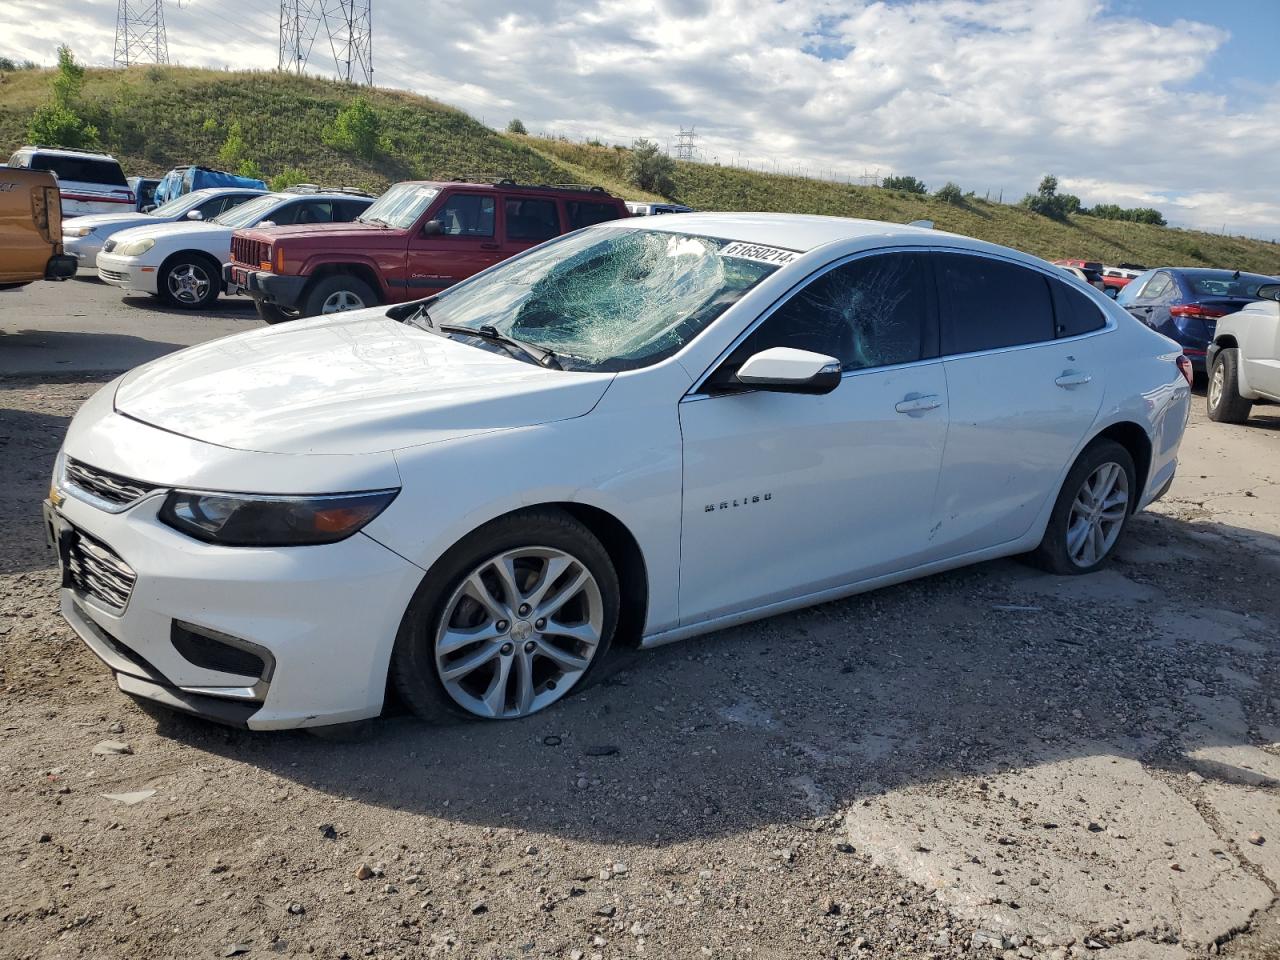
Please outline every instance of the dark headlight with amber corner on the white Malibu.
[{"label": "dark headlight with amber corner on the white Malibu", "polygon": [[381,513],[397,493],[257,497],[174,490],[160,508],[160,520],[197,540],[224,547],[306,547],[346,540]]}]

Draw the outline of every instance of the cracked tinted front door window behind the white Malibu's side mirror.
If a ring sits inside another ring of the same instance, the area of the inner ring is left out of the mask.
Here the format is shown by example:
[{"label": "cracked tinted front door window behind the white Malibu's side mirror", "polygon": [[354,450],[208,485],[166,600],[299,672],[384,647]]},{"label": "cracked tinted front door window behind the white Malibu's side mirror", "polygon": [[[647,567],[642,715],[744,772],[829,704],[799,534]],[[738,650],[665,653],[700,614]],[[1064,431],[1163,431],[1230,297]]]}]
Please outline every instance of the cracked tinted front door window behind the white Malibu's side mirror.
[{"label": "cracked tinted front door window behind the white Malibu's side mirror", "polygon": [[778,307],[735,357],[794,347],[845,370],[910,364],[925,352],[924,270],[915,253],[882,253],[827,271]]}]

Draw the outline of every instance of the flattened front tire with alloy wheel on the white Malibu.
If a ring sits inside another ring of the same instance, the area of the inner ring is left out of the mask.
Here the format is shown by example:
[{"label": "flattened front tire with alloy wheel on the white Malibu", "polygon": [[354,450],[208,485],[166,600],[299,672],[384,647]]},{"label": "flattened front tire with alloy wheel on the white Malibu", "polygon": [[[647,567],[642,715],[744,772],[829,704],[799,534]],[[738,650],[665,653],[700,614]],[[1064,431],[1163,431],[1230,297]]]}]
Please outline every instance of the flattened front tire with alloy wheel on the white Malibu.
[{"label": "flattened front tire with alloy wheel on the white Malibu", "polygon": [[422,719],[531,716],[596,676],[620,596],[608,552],[568,513],[499,517],[422,579],[390,680]]}]

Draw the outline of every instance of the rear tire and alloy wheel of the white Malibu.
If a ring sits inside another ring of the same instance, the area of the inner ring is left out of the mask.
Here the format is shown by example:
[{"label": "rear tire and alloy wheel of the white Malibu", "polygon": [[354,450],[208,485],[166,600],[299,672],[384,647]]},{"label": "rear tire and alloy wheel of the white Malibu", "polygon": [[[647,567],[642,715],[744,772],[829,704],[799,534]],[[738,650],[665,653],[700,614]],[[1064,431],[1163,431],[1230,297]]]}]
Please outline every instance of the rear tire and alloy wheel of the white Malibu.
[{"label": "rear tire and alloy wheel of the white Malibu", "polygon": [[1133,457],[1115,440],[1094,440],[1071,467],[1044,538],[1027,559],[1051,573],[1092,573],[1120,541],[1139,490]]}]

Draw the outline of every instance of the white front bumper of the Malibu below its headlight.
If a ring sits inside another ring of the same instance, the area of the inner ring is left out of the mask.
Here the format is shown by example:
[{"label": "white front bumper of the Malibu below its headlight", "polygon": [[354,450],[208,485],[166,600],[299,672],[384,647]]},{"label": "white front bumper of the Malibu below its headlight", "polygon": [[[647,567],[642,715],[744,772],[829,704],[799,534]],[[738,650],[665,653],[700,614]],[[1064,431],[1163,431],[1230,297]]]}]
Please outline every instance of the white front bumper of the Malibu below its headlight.
[{"label": "white front bumper of the Malibu below its headlight", "polygon": [[[160,522],[164,494],[110,513],[61,484],[60,503],[46,508],[64,571],[63,616],[120,690],[251,730],[378,716],[422,571],[364,534],[324,547],[198,543]],[[133,575],[123,605],[95,586],[92,571],[68,573],[69,536],[106,548]],[[193,662],[175,625],[241,641],[262,654],[264,669]]]}]

